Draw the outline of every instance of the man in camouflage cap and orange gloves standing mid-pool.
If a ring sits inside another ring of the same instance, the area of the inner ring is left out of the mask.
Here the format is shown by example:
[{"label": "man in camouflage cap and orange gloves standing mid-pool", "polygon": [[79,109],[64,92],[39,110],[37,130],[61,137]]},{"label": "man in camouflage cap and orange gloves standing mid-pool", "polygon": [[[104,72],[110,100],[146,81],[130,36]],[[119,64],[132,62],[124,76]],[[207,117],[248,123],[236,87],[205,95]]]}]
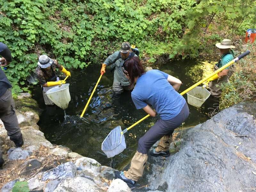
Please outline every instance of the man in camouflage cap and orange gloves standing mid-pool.
[{"label": "man in camouflage cap and orange gloves standing mid-pool", "polygon": [[131,50],[131,45],[129,42],[124,42],[121,44],[121,50],[114,52],[112,55],[108,56],[108,58],[102,64],[100,69],[100,73],[106,72],[105,69],[107,66],[115,63],[115,71],[114,71],[114,81],[113,81],[113,101],[114,104],[120,105],[120,95],[124,90],[130,91],[133,89],[134,85],[130,84],[127,78],[124,76],[122,67],[124,61],[137,57],[137,55]]}]

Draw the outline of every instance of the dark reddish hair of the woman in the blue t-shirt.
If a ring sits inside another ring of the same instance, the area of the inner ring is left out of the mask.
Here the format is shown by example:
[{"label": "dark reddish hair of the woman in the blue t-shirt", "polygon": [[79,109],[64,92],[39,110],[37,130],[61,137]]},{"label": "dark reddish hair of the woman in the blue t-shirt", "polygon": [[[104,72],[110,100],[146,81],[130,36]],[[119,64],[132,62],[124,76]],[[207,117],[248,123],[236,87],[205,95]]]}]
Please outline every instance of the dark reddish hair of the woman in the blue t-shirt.
[{"label": "dark reddish hair of the woman in the blue t-shirt", "polygon": [[134,84],[136,77],[140,77],[143,73],[145,73],[138,57],[132,57],[131,59],[126,60],[123,67],[128,72],[131,84]]}]

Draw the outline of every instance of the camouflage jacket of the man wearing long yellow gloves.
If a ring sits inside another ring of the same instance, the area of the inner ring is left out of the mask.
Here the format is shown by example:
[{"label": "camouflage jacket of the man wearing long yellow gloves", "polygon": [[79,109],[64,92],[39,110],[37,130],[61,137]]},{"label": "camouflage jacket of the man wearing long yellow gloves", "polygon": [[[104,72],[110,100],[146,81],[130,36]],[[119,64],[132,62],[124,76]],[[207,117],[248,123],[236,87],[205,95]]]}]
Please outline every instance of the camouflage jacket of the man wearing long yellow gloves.
[{"label": "camouflage jacket of the man wearing long yellow gloves", "polygon": [[44,70],[44,68],[41,68],[40,66],[36,67],[36,78],[38,79],[40,85],[45,84],[48,81],[56,81],[57,80],[57,74],[56,74],[56,68],[60,68],[60,64],[57,60],[52,59],[53,63],[51,65],[52,70]]}]

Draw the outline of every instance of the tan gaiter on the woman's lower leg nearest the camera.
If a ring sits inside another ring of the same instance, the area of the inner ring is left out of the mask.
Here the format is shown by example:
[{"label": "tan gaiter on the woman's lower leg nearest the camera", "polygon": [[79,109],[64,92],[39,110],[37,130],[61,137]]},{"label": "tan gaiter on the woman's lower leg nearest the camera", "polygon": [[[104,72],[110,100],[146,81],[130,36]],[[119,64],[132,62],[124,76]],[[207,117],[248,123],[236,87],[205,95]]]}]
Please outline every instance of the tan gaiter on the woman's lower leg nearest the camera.
[{"label": "tan gaiter on the woman's lower leg nearest the camera", "polygon": [[131,167],[128,171],[124,171],[124,176],[127,179],[138,181],[140,177],[142,177],[147,160],[147,154],[142,154],[136,151],[135,155],[132,157]]}]

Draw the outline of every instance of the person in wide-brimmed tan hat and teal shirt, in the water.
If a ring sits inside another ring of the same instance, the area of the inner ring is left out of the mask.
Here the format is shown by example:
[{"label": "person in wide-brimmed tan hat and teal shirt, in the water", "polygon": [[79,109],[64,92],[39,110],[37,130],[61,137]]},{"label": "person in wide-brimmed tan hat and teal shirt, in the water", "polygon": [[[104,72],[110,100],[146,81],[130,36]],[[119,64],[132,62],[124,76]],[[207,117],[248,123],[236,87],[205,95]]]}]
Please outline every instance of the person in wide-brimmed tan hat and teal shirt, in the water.
[{"label": "person in wide-brimmed tan hat and teal shirt, in the water", "polygon": [[[233,60],[235,56],[234,51],[231,49],[235,48],[233,45],[231,45],[231,40],[223,39],[221,43],[216,43],[215,45],[220,49],[221,57],[219,62],[214,66],[214,71],[226,65],[228,62]],[[234,66],[230,66],[208,79],[211,81],[209,84],[209,89],[213,97],[220,98],[222,92],[220,85],[228,82],[228,78],[232,75],[233,71]]]}]

